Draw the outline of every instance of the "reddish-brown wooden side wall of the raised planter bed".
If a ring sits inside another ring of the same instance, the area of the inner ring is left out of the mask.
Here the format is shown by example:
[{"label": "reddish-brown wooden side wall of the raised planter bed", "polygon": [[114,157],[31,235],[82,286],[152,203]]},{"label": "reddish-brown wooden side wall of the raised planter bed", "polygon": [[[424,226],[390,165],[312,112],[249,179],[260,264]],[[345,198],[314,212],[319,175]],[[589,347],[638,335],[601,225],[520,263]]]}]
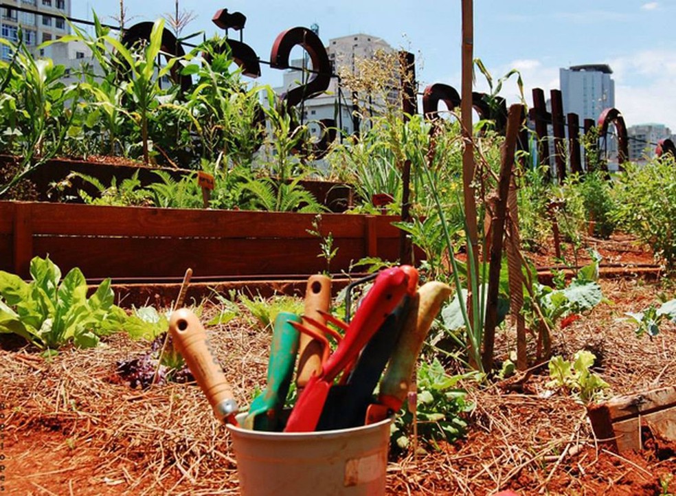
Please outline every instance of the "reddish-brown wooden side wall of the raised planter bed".
[{"label": "reddish-brown wooden side wall of the raised planter bed", "polygon": [[[326,269],[314,214],[0,201],[0,269],[28,278],[34,256],[87,278],[308,275]],[[322,214],[338,247],[330,270],[365,256],[398,258],[394,216]]]}]

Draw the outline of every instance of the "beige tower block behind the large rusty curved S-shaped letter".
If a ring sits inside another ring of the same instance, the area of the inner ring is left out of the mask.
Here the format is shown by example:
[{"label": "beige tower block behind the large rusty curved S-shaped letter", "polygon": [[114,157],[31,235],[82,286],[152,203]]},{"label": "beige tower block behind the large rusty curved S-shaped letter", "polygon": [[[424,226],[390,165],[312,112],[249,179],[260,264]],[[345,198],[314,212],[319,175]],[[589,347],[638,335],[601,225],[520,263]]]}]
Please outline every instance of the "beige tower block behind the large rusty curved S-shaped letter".
[{"label": "beige tower block behind the large rusty curved S-shaped letter", "polygon": [[[341,69],[354,72],[355,63],[358,60],[372,58],[379,50],[392,52],[393,49],[382,38],[370,34],[351,34],[350,36],[333,38],[328,41],[328,47],[326,47],[326,53],[335,74],[339,73]],[[309,67],[310,63],[308,60],[299,59],[292,60],[291,65],[293,67]],[[303,71],[289,69],[284,72],[283,87],[276,89],[276,91],[278,93],[289,91],[289,89],[303,82],[304,77],[307,76],[304,76]],[[303,108],[304,119],[308,122],[308,127],[315,136],[318,136],[320,132],[319,124],[316,122],[323,119],[334,119],[336,126],[340,126],[343,132],[348,135],[354,132],[352,96],[346,93],[345,89],[339,87],[338,78],[331,78],[330,85],[325,93],[305,100]]]}]

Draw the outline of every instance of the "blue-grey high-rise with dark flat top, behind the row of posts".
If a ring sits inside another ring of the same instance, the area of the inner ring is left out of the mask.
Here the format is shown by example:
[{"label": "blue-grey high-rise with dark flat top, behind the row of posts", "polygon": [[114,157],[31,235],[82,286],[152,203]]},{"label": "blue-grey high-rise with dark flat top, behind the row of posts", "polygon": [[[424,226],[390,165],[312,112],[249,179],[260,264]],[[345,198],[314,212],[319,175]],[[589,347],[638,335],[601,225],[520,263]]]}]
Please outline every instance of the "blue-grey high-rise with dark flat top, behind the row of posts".
[{"label": "blue-grey high-rise with dark flat top, behind the row of posts", "polygon": [[580,122],[598,120],[600,113],[615,106],[615,81],[607,64],[574,65],[559,69],[564,113],[576,113]]}]

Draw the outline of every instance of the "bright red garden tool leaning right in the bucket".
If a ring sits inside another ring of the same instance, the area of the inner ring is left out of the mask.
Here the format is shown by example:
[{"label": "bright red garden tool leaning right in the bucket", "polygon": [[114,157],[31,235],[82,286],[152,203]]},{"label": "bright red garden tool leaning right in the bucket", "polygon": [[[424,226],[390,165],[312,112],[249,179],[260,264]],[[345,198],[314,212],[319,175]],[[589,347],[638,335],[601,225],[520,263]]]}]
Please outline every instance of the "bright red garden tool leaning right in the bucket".
[{"label": "bright red garden tool leaning right in the bucket", "polygon": [[383,325],[407,291],[409,276],[399,267],[379,273],[365,295],[354,319],[336,351],[322,365],[319,374],[311,376],[286,423],[286,432],[314,431],[322,414],[333,380],[354,361],[361,349]]}]

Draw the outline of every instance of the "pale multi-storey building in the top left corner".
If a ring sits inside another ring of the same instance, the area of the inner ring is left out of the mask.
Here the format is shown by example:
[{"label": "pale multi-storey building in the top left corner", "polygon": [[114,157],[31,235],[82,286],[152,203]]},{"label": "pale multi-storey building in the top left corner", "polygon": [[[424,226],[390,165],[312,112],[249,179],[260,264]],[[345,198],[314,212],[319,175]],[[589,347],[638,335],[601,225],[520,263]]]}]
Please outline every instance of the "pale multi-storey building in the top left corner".
[{"label": "pale multi-storey building in the top left corner", "polygon": [[[21,27],[24,43],[29,48],[36,47],[45,41],[69,34],[70,28],[63,16],[70,16],[70,13],[71,0],[5,0],[0,15],[0,36],[12,43],[18,43]],[[48,52],[58,52],[58,49],[50,50],[50,48],[41,49],[35,55],[52,56]],[[2,45],[0,56],[4,60],[12,58],[10,47]]]}]

